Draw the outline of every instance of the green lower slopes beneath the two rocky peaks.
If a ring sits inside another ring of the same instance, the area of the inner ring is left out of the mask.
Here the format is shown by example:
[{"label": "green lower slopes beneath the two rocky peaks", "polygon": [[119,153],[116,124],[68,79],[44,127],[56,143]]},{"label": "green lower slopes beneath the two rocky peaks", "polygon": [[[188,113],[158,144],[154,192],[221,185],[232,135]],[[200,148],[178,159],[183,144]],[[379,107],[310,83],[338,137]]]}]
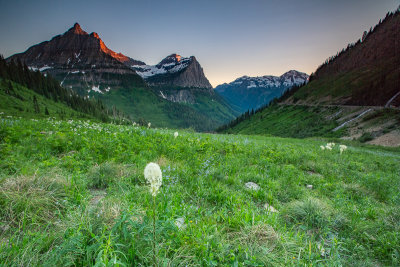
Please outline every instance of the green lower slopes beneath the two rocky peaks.
[{"label": "green lower slopes beneath the two rocky peaks", "polygon": [[134,121],[151,122],[155,127],[211,131],[234,118],[228,106],[209,97],[199,96],[195,105],[173,103],[145,87],[118,88],[96,97],[109,107],[116,106],[129,114]]}]

